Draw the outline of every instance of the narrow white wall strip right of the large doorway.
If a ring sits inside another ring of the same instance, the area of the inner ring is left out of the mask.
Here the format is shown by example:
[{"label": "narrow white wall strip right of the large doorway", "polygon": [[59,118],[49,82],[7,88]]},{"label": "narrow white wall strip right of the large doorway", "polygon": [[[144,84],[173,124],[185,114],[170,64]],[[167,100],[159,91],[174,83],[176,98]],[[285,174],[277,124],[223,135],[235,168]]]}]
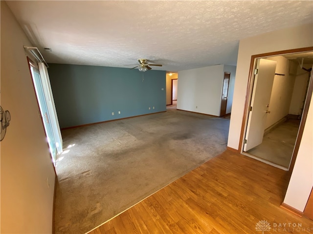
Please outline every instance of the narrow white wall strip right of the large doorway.
[{"label": "narrow white wall strip right of the large doorway", "polygon": [[303,212],[313,186],[313,98],[284,203]]}]

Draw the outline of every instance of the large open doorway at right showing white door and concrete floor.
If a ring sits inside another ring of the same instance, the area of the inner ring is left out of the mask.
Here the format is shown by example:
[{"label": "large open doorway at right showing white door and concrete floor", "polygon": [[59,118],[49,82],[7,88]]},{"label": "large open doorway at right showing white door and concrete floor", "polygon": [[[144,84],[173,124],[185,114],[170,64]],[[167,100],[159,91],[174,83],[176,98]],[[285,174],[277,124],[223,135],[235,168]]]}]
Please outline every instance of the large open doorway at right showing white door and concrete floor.
[{"label": "large open doorway at right showing white door and concrete floor", "polygon": [[293,168],[306,97],[312,95],[312,65],[313,52],[255,58],[242,154],[286,171]]}]

